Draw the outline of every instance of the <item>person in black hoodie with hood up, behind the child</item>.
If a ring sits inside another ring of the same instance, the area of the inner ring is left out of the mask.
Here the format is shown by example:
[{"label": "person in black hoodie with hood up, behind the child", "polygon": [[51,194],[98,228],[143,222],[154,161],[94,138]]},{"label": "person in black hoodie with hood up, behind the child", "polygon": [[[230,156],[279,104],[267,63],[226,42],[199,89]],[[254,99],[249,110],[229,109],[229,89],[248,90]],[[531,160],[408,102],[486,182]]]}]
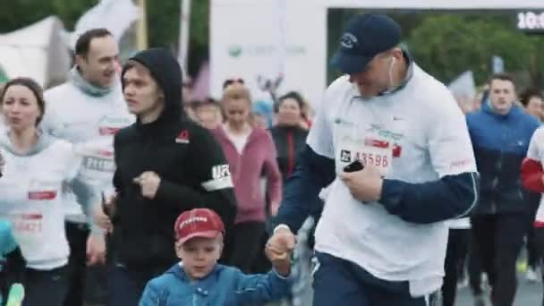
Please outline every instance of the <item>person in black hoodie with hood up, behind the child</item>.
[{"label": "person in black hoodie with hood up, behind the child", "polygon": [[183,211],[212,208],[227,231],[234,221],[221,147],[206,129],[180,119],[182,83],[181,67],[165,49],[141,51],[123,66],[123,95],[137,121],[115,135],[110,306],[137,305],[146,283],[174,264],[174,222]]}]

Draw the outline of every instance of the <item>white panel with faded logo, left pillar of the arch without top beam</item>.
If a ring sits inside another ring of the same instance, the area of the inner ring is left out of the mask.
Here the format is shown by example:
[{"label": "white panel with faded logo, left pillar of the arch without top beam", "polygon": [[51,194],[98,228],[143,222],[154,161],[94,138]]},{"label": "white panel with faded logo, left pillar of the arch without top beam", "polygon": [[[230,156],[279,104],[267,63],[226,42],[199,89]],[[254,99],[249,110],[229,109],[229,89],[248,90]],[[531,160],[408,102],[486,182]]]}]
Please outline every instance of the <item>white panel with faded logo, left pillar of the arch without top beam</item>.
[{"label": "white panel with faded logo, left pillar of the arch without top beam", "polygon": [[[254,100],[299,90],[313,102],[325,89],[327,16],[304,1],[214,1],[210,16],[211,95],[225,79],[240,77]],[[303,11],[303,13],[302,13]],[[243,13],[243,18],[235,17]],[[278,80],[281,76],[283,80]],[[269,84],[267,84],[267,82]]]}]

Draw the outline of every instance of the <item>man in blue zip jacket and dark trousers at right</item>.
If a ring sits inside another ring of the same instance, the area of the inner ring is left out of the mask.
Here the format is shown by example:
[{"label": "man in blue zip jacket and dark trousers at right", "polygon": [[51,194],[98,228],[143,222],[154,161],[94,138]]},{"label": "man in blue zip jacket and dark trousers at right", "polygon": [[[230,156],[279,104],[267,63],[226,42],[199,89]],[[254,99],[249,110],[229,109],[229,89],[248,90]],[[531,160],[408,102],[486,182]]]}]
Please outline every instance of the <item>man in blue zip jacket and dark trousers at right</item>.
[{"label": "man in blue zip jacket and dark trousers at right", "polygon": [[[520,182],[520,167],[539,121],[515,106],[514,80],[489,79],[489,99],[467,115],[476,165],[481,175],[480,202],[472,211],[472,242],[493,288],[494,306],[510,306],[517,286],[515,262],[534,206]],[[475,305],[485,305],[475,293]]]}]

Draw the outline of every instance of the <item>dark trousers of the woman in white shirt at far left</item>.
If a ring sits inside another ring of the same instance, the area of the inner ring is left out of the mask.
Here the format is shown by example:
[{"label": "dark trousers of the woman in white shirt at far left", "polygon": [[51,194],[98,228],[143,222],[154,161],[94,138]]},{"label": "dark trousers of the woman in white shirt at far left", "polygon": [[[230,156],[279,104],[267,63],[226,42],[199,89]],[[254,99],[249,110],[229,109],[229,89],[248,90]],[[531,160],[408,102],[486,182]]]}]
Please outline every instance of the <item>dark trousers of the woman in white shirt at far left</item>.
[{"label": "dark trousers of the woman in white shirt at far left", "polygon": [[27,268],[24,275],[23,306],[61,306],[68,289],[68,269],[48,271]]}]

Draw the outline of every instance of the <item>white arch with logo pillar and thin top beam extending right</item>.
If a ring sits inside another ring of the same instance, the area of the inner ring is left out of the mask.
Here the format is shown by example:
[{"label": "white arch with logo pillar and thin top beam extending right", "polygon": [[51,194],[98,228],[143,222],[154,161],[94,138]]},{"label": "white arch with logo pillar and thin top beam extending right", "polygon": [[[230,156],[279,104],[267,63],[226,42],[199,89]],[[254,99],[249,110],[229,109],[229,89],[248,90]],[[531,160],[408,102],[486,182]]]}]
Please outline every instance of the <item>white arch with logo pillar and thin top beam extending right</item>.
[{"label": "white arch with logo pillar and thin top beam extending right", "polygon": [[[319,101],[327,84],[327,10],[330,8],[515,10],[544,9],[543,0],[211,0],[211,94],[242,77],[259,96],[259,75],[276,78],[279,92],[299,90]],[[242,17],[239,17],[242,16]]]}]

